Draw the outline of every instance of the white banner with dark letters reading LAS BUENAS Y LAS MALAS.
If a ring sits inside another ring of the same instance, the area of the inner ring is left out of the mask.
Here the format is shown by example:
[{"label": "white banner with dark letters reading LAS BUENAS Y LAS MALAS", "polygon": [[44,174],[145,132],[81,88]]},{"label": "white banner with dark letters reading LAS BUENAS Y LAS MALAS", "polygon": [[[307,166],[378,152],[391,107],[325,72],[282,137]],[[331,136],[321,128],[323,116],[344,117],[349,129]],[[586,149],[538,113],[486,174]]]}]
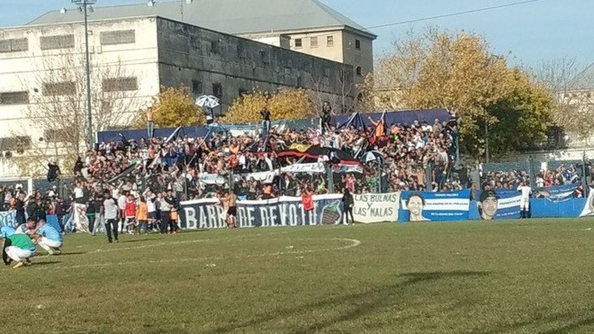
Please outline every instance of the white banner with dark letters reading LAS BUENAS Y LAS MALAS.
[{"label": "white banner with dark letters reading LAS BUENAS Y LAS MALAS", "polygon": [[353,216],[359,223],[397,222],[400,192],[353,195]]}]

